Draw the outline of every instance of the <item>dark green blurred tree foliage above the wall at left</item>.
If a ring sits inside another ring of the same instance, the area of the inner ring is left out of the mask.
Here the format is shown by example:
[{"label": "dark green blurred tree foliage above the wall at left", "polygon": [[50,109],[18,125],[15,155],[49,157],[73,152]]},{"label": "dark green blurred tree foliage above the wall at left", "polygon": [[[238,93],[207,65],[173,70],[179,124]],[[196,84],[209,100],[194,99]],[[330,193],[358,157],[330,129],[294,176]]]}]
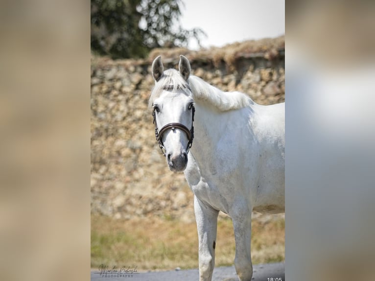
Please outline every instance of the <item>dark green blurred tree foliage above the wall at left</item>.
[{"label": "dark green blurred tree foliage above the wall at left", "polygon": [[186,47],[189,38],[199,44],[201,29],[178,24],[181,5],[181,0],[91,0],[91,49],[114,59],[139,58],[155,47]]}]

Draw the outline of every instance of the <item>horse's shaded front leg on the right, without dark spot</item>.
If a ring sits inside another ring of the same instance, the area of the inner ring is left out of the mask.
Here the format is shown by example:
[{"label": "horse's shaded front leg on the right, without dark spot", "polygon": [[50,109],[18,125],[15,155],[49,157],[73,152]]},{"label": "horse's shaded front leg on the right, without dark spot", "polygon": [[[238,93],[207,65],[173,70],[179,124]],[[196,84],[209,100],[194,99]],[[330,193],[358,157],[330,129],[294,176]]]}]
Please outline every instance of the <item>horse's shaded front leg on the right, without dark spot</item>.
[{"label": "horse's shaded front leg on the right, without dark spot", "polygon": [[253,276],[253,264],[250,255],[251,211],[248,208],[236,211],[232,220],[235,239],[235,271],[240,281],[250,281]]}]

